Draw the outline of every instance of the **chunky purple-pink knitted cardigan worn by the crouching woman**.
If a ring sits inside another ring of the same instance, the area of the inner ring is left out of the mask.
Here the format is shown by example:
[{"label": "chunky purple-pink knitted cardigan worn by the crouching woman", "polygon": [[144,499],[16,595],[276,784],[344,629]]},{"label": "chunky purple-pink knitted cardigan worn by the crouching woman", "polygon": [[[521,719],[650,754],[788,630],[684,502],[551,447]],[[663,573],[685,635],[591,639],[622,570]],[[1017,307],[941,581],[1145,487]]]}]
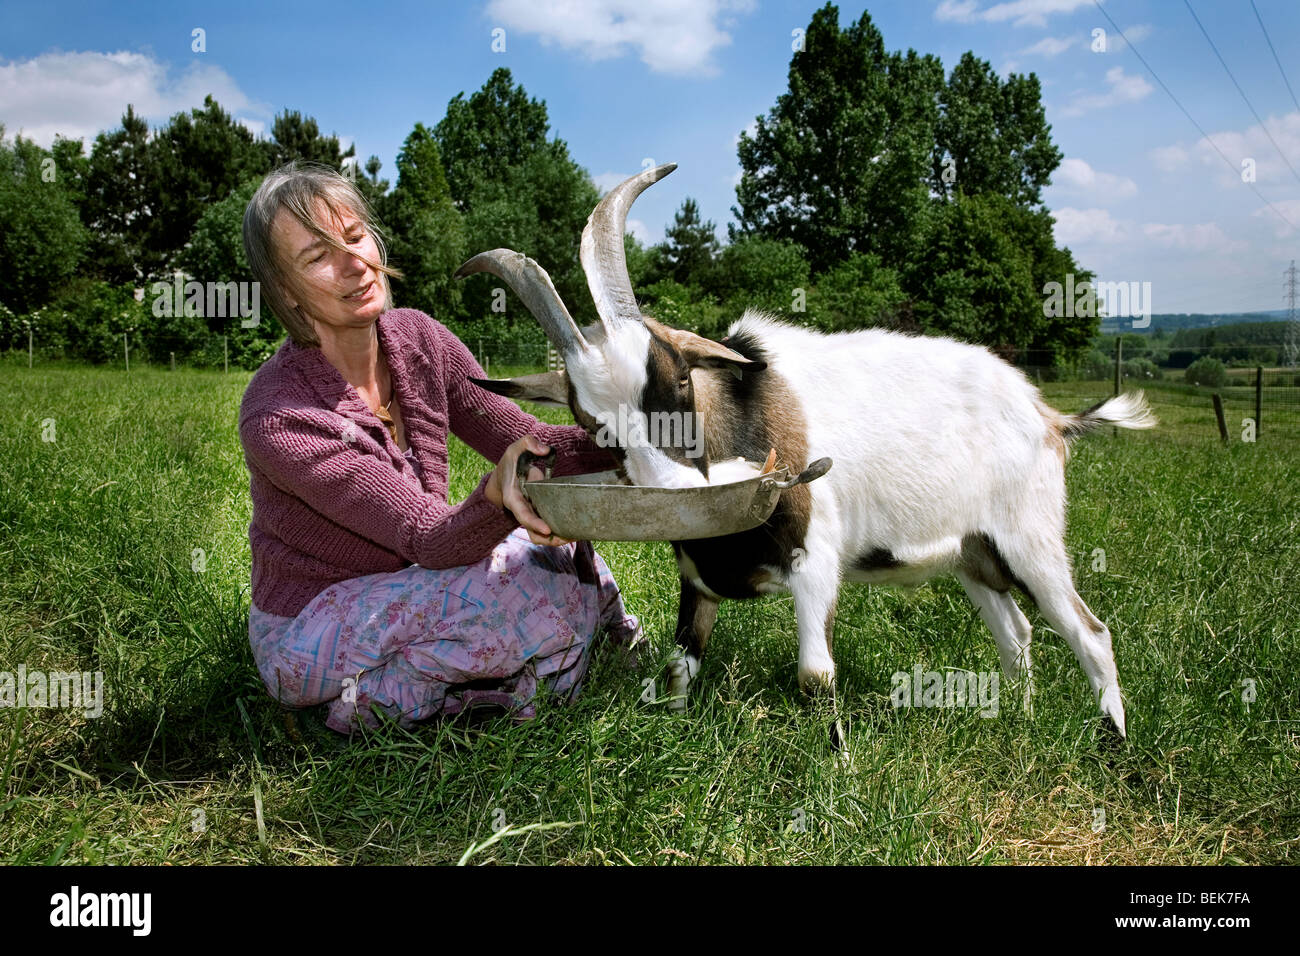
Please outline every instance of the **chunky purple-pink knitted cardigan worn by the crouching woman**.
[{"label": "chunky purple-pink knitted cardigan worn by the crouching woman", "polygon": [[485,558],[516,522],[484,494],[488,475],[447,502],[447,432],[490,463],[536,434],[558,450],[555,473],[614,467],[577,425],[546,425],[476,388],[468,349],[424,312],[377,320],[407,441],[424,485],[391,434],[317,347],[286,339],[239,406],[252,496],[252,602],[296,617],[335,581],[410,564],[462,567]]}]

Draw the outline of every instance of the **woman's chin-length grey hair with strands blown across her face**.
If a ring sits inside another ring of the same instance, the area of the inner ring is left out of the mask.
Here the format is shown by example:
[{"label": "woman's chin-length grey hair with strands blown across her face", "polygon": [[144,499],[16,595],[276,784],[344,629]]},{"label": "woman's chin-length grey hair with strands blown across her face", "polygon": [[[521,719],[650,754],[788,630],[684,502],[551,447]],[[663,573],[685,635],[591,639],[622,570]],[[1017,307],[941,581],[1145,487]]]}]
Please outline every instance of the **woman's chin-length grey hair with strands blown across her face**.
[{"label": "woman's chin-length grey hair with strands blown across her face", "polygon": [[276,247],[270,228],[280,211],[285,209],[317,238],[334,248],[355,255],[355,250],[347,248],[333,233],[322,229],[316,221],[320,204],[325,206],[329,217],[339,230],[343,215],[351,212],[361,221],[361,228],[374,239],[374,245],[380,250],[380,261],[374,263],[364,256],[358,258],[378,274],[385,310],[393,308],[389,276],[402,277],[400,272],[387,264],[387,250],[369,203],[347,177],[341,176],[330,166],[318,163],[299,163],[298,160],[268,174],[257,191],[254,193],[252,199],[248,200],[248,208],[244,209],[244,255],[248,256],[248,267],[252,269],[254,278],[261,284],[261,298],[289,330],[290,338],[302,346],[318,346],[320,338],[316,336],[311,320],[289,304],[294,289],[298,286],[298,277],[290,268],[289,250]]}]

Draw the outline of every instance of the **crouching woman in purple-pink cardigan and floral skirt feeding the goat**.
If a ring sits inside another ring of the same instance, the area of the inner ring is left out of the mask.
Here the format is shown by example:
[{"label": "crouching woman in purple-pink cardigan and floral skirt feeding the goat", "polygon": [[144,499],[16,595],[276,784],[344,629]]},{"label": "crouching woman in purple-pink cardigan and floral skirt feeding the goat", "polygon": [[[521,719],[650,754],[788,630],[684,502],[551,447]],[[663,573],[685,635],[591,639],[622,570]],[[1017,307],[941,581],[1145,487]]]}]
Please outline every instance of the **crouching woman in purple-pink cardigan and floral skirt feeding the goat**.
[{"label": "crouching woman in purple-pink cardigan and floral skirt feeding the goat", "polygon": [[[326,726],[410,726],[476,704],[533,715],[538,684],[572,697],[593,639],[641,631],[590,542],[551,533],[516,462],[612,467],[578,427],[545,425],[476,388],[469,350],[391,308],[369,208],[325,166],[290,164],[248,203],[243,241],[289,330],[239,408],[251,476],[248,636],[266,689],[328,702]],[[447,432],[497,462],[447,502]],[[532,475],[537,475],[536,468]]]}]

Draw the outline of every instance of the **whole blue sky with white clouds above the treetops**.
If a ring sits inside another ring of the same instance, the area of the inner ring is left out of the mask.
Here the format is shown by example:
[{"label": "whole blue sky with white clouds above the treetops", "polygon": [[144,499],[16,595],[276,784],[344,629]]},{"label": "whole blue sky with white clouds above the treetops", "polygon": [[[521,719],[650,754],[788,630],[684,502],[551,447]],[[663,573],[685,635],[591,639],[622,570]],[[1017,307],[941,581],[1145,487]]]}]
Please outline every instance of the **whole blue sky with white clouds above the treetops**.
[{"label": "whole blue sky with white clouds above the treetops", "polygon": [[[1300,95],[1300,4],[1254,0]],[[546,100],[552,133],[607,187],[642,161],[679,169],[633,209],[662,238],[682,198],[724,226],[736,202],[736,139],[785,90],[792,31],[818,3],[491,0],[468,3],[43,3],[0,7],[0,124],[43,144],[116,126],[127,101],[155,124],[207,92],[254,130],[285,108],[394,157],[416,121],[508,66]],[[1170,101],[1092,0],[840,4],[870,10],[890,49],[971,49],[1044,85],[1066,163],[1045,191],[1057,239],[1110,281],[1149,281],[1156,312],[1282,307],[1300,258],[1300,107],[1249,0],[1192,0],[1265,127],[1178,0],[1106,0],[1132,40],[1231,161]],[[194,52],[192,30],[205,31]],[[504,52],[493,31],[504,30]],[[1106,30],[1095,52],[1093,30]],[[1253,160],[1253,191],[1242,182]],[[1262,198],[1261,198],[1262,196]],[[1271,203],[1274,208],[1270,208]],[[1275,209],[1275,211],[1274,211]],[[1280,216],[1278,215],[1280,213]]]}]

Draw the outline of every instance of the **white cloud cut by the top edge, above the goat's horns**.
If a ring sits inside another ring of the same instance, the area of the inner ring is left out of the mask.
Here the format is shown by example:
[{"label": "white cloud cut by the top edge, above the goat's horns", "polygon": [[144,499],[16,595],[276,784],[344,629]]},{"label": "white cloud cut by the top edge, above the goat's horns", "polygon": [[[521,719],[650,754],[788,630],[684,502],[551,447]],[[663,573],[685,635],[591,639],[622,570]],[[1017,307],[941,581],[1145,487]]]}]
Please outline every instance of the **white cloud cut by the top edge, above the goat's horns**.
[{"label": "white cloud cut by the top edge, above the goat's horns", "polygon": [[507,43],[517,30],[593,61],[630,49],[656,73],[711,75],[714,51],[731,43],[731,14],[753,7],[753,0],[491,0],[488,17],[506,27]]}]

